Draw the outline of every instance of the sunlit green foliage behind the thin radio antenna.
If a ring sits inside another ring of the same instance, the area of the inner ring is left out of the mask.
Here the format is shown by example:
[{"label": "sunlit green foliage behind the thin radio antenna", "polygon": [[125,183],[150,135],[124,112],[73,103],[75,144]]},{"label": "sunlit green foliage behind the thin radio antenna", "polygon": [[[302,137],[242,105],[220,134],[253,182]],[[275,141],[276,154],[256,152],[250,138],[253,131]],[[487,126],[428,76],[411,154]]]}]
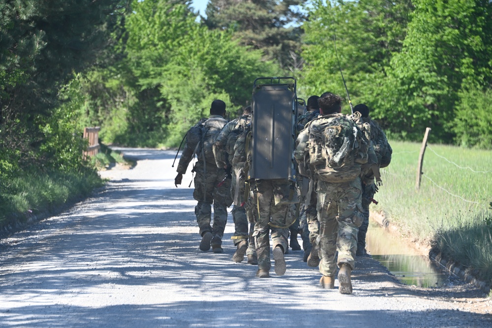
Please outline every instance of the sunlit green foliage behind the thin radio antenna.
[{"label": "sunlit green foliage behind the thin radio antenna", "polygon": [[354,104],[368,104],[371,116],[389,125],[387,69],[401,49],[411,10],[410,0],[313,1],[303,25],[306,93],[344,95],[341,68]]}]

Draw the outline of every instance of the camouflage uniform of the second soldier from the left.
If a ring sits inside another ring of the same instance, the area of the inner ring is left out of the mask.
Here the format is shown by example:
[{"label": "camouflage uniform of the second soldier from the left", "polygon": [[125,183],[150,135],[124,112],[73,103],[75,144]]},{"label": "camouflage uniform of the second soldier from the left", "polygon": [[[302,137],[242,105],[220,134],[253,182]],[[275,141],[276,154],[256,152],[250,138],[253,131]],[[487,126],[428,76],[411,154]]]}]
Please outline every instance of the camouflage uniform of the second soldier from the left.
[{"label": "camouflage uniform of the second soldier from the left", "polygon": [[[238,135],[242,131],[243,126],[249,124],[250,119],[250,116],[242,116],[227,123],[222,128],[222,131],[220,131],[220,134],[218,135],[214,144],[215,163],[217,167],[224,168],[226,166],[230,167],[232,165],[232,183],[230,192],[231,198],[234,202],[234,207],[232,209],[232,219],[234,221],[235,227],[234,236],[232,237],[232,239],[234,239],[234,245],[237,245],[242,240],[247,241],[249,236],[246,209],[244,208],[244,206],[241,206],[244,201],[245,192],[245,177],[243,174],[241,174],[241,169],[244,167],[246,158],[244,160],[235,160],[234,164],[232,164],[231,162],[234,159],[234,146],[236,145]],[[237,199],[235,198],[236,188],[239,188]],[[253,251],[253,249],[249,249],[249,253],[246,254],[255,253],[256,252]]]}]

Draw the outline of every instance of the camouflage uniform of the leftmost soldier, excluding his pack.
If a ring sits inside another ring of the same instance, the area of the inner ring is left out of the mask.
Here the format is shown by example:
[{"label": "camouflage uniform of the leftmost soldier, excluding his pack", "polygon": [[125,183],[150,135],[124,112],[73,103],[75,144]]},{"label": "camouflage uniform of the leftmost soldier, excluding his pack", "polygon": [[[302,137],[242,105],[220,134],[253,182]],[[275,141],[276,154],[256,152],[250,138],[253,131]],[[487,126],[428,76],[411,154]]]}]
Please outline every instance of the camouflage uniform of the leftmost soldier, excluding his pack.
[{"label": "camouflage uniform of the leftmost soldier, excluding his pack", "polygon": [[[219,115],[211,115],[209,120],[217,126],[223,127],[227,120]],[[201,119],[197,125],[204,123],[207,119]],[[195,125],[195,126],[197,126]],[[191,131],[191,129],[190,129]],[[189,132],[189,131],[188,131]],[[178,169],[180,174],[185,174],[189,162],[193,159],[196,145],[188,145],[188,138],[184,145],[183,153],[180,157]],[[220,246],[224,229],[227,223],[227,208],[231,205],[230,195],[231,179],[225,179],[220,186],[217,186],[225,177],[224,169],[219,169],[215,162],[208,162],[197,151],[197,162],[192,172],[195,172],[193,198],[198,202],[195,207],[196,220],[200,228],[200,236],[206,232],[211,232],[213,239],[211,244]],[[212,204],[214,204],[214,224],[210,225],[212,218]]]}]

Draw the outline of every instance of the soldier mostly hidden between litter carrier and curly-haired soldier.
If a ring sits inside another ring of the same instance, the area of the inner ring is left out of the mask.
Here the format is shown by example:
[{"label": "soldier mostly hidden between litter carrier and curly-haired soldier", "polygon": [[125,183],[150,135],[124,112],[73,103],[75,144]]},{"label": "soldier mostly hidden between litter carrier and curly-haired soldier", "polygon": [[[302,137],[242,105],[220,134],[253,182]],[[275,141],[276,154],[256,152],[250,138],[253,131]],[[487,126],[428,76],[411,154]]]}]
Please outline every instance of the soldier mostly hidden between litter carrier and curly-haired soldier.
[{"label": "soldier mostly hidden between litter carrier and curly-haired soldier", "polygon": [[[307,99],[307,113],[299,117],[297,121],[298,133],[304,130],[307,123],[319,116],[318,98],[319,96],[313,95]],[[311,255],[312,244],[313,242],[315,243],[315,240],[319,236],[319,222],[316,212],[316,182],[312,181],[311,188],[309,188],[309,178],[310,177],[306,176],[304,179],[301,179],[301,177],[297,179],[298,188],[301,191],[299,221],[301,238],[303,239],[303,261],[307,262],[307,259],[309,258],[307,265],[310,267],[317,267],[319,264],[317,249],[315,249]],[[306,197],[309,197],[307,202]]]}]

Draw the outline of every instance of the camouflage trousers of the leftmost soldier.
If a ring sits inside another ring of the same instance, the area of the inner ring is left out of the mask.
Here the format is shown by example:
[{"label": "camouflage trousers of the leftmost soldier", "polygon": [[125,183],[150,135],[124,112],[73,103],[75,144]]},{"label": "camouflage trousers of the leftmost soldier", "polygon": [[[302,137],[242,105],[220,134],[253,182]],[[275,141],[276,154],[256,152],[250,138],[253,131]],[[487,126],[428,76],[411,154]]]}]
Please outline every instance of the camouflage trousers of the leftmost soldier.
[{"label": "camouflage trousers of the leftmost soldier", "polygon": [[[199,161],[194,167],[196,176],[194,179],[195,190],[193,198],[198,202],[195,206],[196,221],[200,228],[200,236],[211,232],[214,236],[211,244],[221,245],[224,229],[227,223],[227,208],[231,206],[231,179],[226,179],[218,186],[225,177],[225,171],[216,167],[215,163],[207,163],[205,174],[203,162]],[[214,205],[214,224],[212,220],[212,204]]]}]

